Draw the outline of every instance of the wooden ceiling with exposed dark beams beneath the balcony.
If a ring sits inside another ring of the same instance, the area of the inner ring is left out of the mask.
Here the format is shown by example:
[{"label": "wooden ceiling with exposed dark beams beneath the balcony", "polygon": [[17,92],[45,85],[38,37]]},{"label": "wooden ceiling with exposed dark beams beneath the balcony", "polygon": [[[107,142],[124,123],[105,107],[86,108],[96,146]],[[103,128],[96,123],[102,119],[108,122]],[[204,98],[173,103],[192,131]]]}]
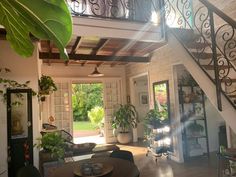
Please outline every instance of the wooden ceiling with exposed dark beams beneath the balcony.
[{"label": "wooden ceiling with exposed dark beams beneath the balcony", "polygon": [[39,58],[46,63],[68,65],[126,65],[129,62],[150,61],[152,52],[165,45],[164,42],[137,41],[123,38],[97,36],[73,36],[66,46],[70,61],[60,60],[59,50],[45,40],[40,41]]}]

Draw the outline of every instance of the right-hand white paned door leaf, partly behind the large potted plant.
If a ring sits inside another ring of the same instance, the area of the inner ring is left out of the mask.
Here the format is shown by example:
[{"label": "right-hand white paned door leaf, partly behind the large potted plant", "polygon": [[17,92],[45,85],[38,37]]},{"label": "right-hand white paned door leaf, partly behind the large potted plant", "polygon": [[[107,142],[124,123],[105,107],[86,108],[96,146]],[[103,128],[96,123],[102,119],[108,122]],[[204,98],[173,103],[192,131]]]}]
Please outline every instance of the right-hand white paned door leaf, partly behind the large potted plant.
[{"label": "right-hand white paned door leaf, partly behind the large potted plant", "polygon": [[121,104],[121,80],[106,79],[104,81],[104,109],[105,109],[105,141],[106,143],[116,142],[116,137],[113,134],[111,121],[113,112],[118,104]]}]

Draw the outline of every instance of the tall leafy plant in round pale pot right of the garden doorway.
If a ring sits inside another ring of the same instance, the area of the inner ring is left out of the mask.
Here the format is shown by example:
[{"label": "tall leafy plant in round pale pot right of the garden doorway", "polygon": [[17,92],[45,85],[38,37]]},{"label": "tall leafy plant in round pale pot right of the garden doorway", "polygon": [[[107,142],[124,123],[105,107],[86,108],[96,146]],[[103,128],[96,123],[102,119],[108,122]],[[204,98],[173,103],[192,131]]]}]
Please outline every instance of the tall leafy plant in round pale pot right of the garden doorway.
[{"label": "tall leafy plant in round pale pot right of the garden doorway", "polygon": [[132,139],[130,128],[136,128],[138,113],[132,104],[120,104],[114,112],[112,127],[117,130],[117,140],[121,144],[127,144]]}]

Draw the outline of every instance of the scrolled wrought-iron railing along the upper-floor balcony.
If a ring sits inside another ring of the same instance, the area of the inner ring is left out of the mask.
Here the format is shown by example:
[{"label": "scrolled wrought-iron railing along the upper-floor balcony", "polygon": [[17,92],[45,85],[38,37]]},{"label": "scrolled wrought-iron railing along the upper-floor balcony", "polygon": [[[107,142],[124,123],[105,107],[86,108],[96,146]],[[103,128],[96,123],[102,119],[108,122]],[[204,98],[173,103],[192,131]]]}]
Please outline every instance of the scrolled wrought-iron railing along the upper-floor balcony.
[{"label": "scrolled wrought-iron railing along the upper-floor balcony", "polygon": [[67,0],[75,16],[129,19],[148,22],[153,11],[158,13],[158,0]]}]

